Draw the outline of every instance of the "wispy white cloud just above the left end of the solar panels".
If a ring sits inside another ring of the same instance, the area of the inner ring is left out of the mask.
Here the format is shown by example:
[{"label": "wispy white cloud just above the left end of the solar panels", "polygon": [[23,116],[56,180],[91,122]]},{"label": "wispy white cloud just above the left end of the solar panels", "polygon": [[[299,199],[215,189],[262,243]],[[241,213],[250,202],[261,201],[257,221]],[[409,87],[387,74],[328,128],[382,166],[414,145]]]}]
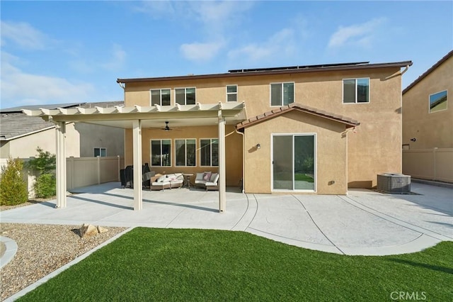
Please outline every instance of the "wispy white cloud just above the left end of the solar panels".
[{"label": "wispy white cloud just above the left end of the solar panels", "polygon": [[284,28],[263,43],[251,43],[235,50],[230,50],[231,60],[263,61],[275,56],[289,56],[295,51],[294,30]]}]

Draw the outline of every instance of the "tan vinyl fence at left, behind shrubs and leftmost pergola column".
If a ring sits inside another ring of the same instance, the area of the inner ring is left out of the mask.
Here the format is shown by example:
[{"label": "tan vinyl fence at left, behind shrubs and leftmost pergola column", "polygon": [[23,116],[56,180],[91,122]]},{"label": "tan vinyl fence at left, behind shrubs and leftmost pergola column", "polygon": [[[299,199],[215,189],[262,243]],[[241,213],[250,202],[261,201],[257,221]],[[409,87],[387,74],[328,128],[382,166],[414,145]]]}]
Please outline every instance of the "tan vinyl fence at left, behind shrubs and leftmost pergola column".
[{"label": "tan vinyl fence at left, behind shrubs and leftmost pergola column", "polygon": [[[21,159],[27,162],[28,158]],[[0,159],[0,167],[6,165],[7,159]],[[110,181],[120,181],[120,169],[124,168],[124,158],[115,157],[68,157],[66,159],[67,190],[81,186],[103,184]],[[28,186],[28,198],[35,197],[33,184],[36,173],[23,169],[24,180]]]}]

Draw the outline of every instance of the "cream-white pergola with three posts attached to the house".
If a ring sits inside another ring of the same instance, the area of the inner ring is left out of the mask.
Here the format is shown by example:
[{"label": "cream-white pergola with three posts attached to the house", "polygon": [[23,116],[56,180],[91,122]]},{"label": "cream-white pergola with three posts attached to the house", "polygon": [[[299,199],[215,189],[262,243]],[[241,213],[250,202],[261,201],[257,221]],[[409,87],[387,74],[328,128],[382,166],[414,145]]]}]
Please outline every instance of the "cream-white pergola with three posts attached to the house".
[{"label": "cream-white pergola with three posts attached to the house", "polygon": [[[132,129],[134,184],[142,184],[142,128],[161,127],[171,121],[178,127],[218,125],[219,129],[219,212],[226,210],[225,184],[225,125],[246,120],[245,104],[239,102],[218,104],[195,104],[176,106],[114,106],[111,108],[57,108],[26,110],[28,116],[40,116],[56,124],[57,136],[57,208],[67,205],[66,177],[66,124],[93,123],[117,128]],[[142,209],[142,186],[134,186],[134,210]]]}]

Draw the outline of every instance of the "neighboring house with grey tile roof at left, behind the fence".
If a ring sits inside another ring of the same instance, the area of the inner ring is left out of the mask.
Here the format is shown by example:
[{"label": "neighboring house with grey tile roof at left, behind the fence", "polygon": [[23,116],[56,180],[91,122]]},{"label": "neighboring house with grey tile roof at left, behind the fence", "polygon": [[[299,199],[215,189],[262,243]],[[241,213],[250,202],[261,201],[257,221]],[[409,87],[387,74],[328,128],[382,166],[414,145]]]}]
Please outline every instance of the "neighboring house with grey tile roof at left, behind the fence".
[{"label": "neighboring house with grey tile roof at left, behind the fence", "polygon": [[[90,108],[94,106],[122,106],[124,102],[103,102],[84,104],[53,104],[40,106],[23,106],[0,109],[0,159],[5,162],[8,157],[28,158],[38,154],[37,147],[44,151],[56,153],[55,123],[44,121],[35,116],[26,116],[22,108]],[[124,130],[103,125],[72,123],[66,125],[67,157],[124,156]]]}]

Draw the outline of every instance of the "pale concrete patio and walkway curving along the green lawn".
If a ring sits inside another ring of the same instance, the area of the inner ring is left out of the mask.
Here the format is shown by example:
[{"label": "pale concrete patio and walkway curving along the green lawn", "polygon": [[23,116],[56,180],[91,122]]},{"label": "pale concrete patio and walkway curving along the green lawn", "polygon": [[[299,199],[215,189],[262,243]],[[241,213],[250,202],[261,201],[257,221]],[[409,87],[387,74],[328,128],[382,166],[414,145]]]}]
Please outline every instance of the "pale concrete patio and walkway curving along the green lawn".
[{"label": "pale concrete patio and walkway curving along the green lawn", "polygon": [[[412,184],[411,195],[352,189],[347,196],[241,194],[228,189],[226,212],[218,192],[144,191],[133,211],[132,189],[89,186],[55,201],[0,213],[3,223],[241,230],[298,247],[344,255],[396,255],[453,240],[453,189]],[[420,195],[418,195],[420,194]]]}]

